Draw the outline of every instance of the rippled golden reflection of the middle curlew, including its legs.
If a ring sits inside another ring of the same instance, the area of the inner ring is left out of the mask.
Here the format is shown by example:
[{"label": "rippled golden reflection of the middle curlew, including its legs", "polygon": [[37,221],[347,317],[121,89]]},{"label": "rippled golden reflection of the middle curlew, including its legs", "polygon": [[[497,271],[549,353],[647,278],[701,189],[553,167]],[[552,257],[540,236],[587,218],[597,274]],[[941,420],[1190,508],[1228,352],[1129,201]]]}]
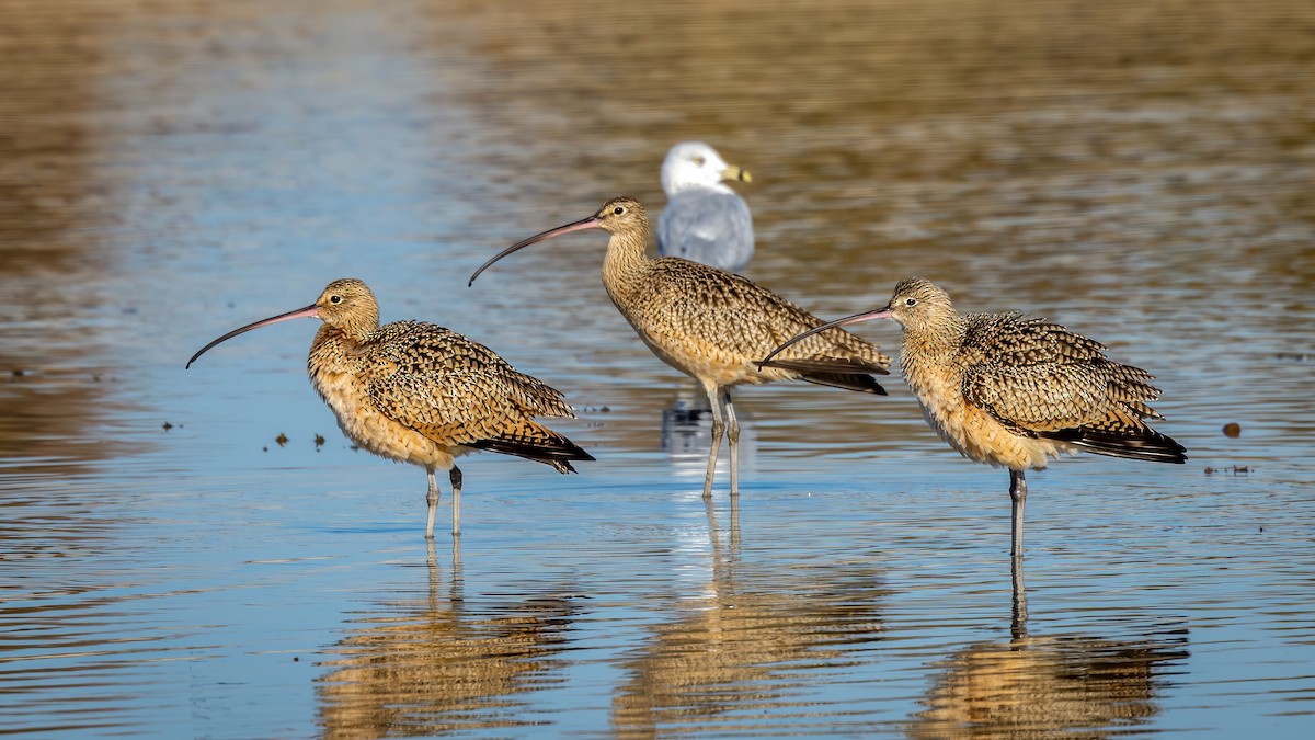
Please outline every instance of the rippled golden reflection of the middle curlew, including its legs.
[{"label": "rippled golden reflection of the middle curlew, including its legs", "polygon": [[[856,662],[855,649],[881,639],[876,568],[742,562],[739,525],[729,537],[711,527],[709,589],[663,607],[671,620],[651,627],[613,699],[618,737],[651,737],[680,727],[706,732],[768,712],[815,703],[819,669]],[[807,666],[805,669],[803,666]]]}]

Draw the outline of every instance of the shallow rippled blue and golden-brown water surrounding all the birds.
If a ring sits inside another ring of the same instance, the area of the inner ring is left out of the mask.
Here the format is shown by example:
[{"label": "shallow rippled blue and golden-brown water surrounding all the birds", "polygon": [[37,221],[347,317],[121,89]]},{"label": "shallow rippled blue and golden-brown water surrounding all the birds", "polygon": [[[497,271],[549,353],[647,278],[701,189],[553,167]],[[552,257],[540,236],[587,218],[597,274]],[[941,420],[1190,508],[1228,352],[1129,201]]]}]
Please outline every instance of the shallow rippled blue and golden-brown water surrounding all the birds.
[{"label": "shallow rippled blue and golden-brown water surrounding all the birds", "polygon": [[[998,5],[0,4],[0,733],[1304,737],[1315,9]],[[755,280],[1060,320],[1157,374],[1191,460],[1031,475],[1026,620],[1007,477],[897,377],[738,394],[706,508],[601,234],[466,287],[656,212],[684,138],[753,171]],[[310,321],[183,370],[347,275],[563,390],[598,461],[466,458],[427,550]]]}]

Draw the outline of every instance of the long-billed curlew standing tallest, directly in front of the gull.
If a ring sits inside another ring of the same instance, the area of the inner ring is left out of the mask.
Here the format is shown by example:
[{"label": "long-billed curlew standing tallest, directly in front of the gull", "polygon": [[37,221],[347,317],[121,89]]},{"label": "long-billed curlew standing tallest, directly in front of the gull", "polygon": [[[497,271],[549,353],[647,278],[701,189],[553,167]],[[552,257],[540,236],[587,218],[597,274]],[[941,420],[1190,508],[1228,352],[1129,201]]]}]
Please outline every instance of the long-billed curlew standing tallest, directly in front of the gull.
[{"label": "long-billed curlew standing tallest, directly in front of the gull", "polygon": [[614,198],[588,219],[519,241],[480,266],[531,244],[580,229],[611,234],[602,261],[602,284],[621,315],[660,359],[694,378],[713,408],[713,445],[704,475],[711,496],[722,433],[730,441],[731,496],[739,495],[739,421],[730,390],[743,383],[803,379],[851,391],[885,395],[874,374],[888,374],[890,358],[848,332],[819,334],[773,367],[756,362],[786,338],[822,323],[784,298],[752,282],[679,257],[644,254],[648,217],[630,198]]}]

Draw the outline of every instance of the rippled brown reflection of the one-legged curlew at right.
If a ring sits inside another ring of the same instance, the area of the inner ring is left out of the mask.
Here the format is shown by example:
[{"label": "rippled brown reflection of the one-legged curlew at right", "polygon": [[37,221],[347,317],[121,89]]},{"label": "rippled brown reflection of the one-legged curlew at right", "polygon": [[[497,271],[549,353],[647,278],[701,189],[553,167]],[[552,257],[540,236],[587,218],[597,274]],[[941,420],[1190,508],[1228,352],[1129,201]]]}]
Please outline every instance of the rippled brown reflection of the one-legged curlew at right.
[{"label": "rippled brown reflection of the one-legged curlew at right", "polygon": [[1161,677],[1190,654],[1185,627],[1152,625],[1132,639],[1028,635],[1020,558],[1014,585],[1013,637],[945,660],[909,737],[1095,740],[1160,712]]}]

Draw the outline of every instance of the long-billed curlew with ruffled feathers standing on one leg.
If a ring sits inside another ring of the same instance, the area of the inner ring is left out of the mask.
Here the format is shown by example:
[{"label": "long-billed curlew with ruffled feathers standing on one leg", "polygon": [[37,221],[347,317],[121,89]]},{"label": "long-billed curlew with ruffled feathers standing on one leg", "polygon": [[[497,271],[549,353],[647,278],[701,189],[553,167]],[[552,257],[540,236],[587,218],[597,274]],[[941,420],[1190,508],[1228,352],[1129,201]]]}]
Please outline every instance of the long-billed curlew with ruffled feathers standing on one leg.
[{"label": "long-billed curlew with ruffled feathers standing on one leg", "polygon": [[1105,346],[1059,324],[1016,312],[955,311],[949,295],[922,278],[896,286],[885,308],[803,332],[764,358],[814,332],[872,319],[903,327],[899,362],[923,416],[964,457],[1009,467],[1013,554],[1023,552],[1023,473],[1080,450],[1185,462],[1186,449],[1152,429],[1162,419],[1147,406],[1160,398],[1153,375],[1105,357]]}]

